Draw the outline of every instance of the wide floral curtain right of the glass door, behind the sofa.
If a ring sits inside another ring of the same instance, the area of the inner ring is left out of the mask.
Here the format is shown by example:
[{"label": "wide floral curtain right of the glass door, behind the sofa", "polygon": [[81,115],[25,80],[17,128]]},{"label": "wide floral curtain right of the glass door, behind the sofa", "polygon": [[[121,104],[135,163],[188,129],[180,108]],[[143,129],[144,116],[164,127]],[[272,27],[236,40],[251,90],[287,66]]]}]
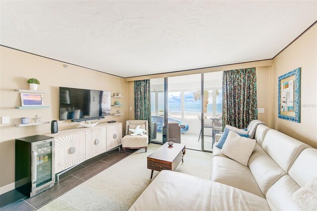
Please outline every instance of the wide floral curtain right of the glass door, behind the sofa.
[{"label": "wide floral curtain right of the glass door, behind the sofa", "polygon": [[222,129],[246,128],[258,119],[256,68],[229,70],[222,77]]}]

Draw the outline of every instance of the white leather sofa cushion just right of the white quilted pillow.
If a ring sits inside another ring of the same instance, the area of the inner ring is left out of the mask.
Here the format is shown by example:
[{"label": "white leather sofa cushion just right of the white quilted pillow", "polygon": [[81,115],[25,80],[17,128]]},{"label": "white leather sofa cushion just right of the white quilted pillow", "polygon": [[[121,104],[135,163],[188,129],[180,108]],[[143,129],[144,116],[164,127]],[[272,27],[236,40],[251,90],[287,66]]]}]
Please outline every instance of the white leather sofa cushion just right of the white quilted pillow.
[{"label": "white leather sofa cushion just right of the white quilted pillow", "polygon": [[255,149],[249,159],[249,168],[263,195],[286,172],[271,159],[262,147]]}]

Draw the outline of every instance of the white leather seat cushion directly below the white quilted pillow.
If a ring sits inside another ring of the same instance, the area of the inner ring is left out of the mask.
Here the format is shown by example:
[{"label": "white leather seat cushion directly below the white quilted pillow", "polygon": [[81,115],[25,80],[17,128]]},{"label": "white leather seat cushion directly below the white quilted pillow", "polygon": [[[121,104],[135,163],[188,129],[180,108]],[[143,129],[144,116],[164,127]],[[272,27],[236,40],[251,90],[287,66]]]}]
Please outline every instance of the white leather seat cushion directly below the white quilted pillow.
[{"label": "white leather seat cushion directly below the white quilted pillow", "polygon": [[230,185],[264,198],[250,169],[228,158],[212,157],[211,181]]}]

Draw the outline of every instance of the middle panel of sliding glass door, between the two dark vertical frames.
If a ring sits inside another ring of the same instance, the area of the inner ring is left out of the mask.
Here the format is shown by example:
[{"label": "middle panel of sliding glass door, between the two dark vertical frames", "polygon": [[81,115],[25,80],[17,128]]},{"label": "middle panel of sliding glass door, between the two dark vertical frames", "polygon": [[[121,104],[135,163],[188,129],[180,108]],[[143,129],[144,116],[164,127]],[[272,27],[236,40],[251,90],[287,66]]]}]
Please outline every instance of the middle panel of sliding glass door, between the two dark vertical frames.
[{"label": "middle panel of sliding glass door, between the two dark vertical frames", "polygon": [[[201,74],[168,78],[168,123],[170,127],[178,123],[181,143],[188,149],[202,150],[200,92]],[[168,137],[172,138],[172,134]]]}]

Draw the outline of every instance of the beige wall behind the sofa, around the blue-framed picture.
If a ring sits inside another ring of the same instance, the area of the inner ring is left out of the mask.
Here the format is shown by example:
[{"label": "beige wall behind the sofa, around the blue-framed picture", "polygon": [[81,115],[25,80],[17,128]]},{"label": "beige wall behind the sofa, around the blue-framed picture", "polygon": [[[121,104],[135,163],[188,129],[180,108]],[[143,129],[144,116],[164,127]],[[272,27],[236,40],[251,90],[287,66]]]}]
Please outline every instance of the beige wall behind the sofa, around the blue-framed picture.
[{"label": "beige wall behind the sofa, around the blue-framed picture", "polygon": [[[301,67],[301,123],[277,117],[277,79]],[[317,148],[317,25],[273,59],[270,75],[270,125]]]}]

